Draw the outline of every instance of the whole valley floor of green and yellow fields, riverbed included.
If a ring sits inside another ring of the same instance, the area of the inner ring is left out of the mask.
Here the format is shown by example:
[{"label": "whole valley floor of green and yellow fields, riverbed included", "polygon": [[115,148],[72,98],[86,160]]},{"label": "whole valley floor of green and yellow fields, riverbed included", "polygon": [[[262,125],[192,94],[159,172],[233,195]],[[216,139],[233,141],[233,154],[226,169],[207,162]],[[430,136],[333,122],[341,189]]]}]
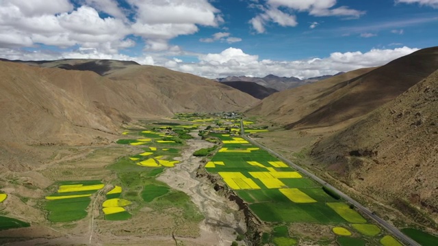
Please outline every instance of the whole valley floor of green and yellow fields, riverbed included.
[{"label": "whole valley floor of green and yellow fields, riverbed included", "polygon": [[[75,149],[78,159],[42,169],[51,182],[38,195],[0,193],[0,212],[8,211],[0,231],[44,229],[84,245],[102,238],[151,245],[400,245],[333,191],[241,137],[240,115],[223,114],[144,120],[126,126],[117,144]],[[268,131],[255,119],[243,124],[246,134]],[[44,219],[14,216],[11,200],[31,204]],[[434,236],[405,230],[435,245]],[[5,233],[0,243],[17,240]]]}]

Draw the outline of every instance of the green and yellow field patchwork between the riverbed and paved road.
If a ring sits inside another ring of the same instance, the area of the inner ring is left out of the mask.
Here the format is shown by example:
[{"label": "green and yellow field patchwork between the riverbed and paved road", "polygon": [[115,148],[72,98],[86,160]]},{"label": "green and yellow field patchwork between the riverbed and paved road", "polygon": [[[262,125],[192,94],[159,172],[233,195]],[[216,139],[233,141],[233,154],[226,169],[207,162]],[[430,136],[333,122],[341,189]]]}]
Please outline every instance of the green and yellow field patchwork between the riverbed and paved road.
[{"label": "green and yellow field patchwork between the riverbed and paved road", "polygon": [[[236,121],[228,124],[232,125],[231,128],[238,127]],[[268,131],[251,127],[253,122],[244,121],[243,124],[247,134]],[[352,206],[324,191],[320,184],[302,176],[238,134],[221,133],[222,129],[211,128],[205,137],[222,143],[222,147],[205,164],[205,169],[220,176],[261,221],[272,225],[273,231],[268,230],[261,237],[263,243],[295,245],[300,241],[300,235],[288,230],[294,224],[328,226],[341,246],[379,245],[389,241],[389,236],[385,236],[378,226],[368,223]],[[274,225],[279,223],[286,230],[275,236]]]}]

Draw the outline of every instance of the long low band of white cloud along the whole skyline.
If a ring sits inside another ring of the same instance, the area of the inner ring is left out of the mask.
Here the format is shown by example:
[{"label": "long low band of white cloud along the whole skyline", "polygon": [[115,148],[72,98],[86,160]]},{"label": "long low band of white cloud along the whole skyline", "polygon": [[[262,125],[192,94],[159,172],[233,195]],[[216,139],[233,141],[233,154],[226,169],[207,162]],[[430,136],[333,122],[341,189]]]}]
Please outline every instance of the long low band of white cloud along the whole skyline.
[{"label": "long low band of white cloud along the whole skyline", "polygon": [[[336,74],[358,68],[382,66],[389,61],[409,55],[418,49],[403,46],[395,49],[372,49],[365,53],[335,52],[328,57],[311,57],[309,59],[273,61],[271,59],[259,59],[258,55],[244,53],[242,49],[230,47],[220,53],[198,54],[198,62],[183,62],[182,59],[155,57],[146,55],[129,57],[119,53],[101,53],[96,48],[80,48],[75,51],[53,53],[47,50],[23,51],[20,49],[0,48],[0,57],[6,59],[41,60],[41,59],[118,59],[132,60],[139,64],[166,66],[172,70],[190,72],[202,77],[218,78],[227,76],[253,76],[265,77],[268,74],[276,74],[284,77],[309,78],[326,74]],[[181,55],[181,51],[175,51]],[[194,55],[194,54],[192,54]]]}]

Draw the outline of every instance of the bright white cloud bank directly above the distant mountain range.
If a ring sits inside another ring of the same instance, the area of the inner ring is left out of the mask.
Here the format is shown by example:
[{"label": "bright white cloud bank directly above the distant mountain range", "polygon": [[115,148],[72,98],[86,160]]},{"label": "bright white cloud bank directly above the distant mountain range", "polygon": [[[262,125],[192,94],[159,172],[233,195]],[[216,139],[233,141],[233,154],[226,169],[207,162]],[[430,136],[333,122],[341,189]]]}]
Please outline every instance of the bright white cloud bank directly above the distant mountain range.
[{"label": "bright white cloud bank directly above the distant mountain range", "polygon": [[181,63],[172,67],[181,72],[191,72],[203,77],[217,78],[227,76],[264,77],[276,74],[285,77],[317,77],[336,74],[358,68],[382,66],[389,61],[409,55],[418,49],[403,46],[396,49],[372,49],[361,51],[331,53],[329,57],[312,57],[294,61],[260,60],[257,55],[244,53],[242,49],[229,48],[221,53],[199,55],[198,63]]}]

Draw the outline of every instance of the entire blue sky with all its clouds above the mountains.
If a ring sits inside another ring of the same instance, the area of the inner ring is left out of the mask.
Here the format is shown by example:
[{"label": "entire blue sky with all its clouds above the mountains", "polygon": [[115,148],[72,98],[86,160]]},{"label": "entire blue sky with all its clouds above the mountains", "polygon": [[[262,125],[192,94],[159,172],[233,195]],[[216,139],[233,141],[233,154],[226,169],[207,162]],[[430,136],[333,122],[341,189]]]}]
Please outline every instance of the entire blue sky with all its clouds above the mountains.
[{"label": "entire blue sky with all its clouds above the mountains", "polygon": [[3,0],[0,57],[313,77],[436,46],[438,0]]}]

